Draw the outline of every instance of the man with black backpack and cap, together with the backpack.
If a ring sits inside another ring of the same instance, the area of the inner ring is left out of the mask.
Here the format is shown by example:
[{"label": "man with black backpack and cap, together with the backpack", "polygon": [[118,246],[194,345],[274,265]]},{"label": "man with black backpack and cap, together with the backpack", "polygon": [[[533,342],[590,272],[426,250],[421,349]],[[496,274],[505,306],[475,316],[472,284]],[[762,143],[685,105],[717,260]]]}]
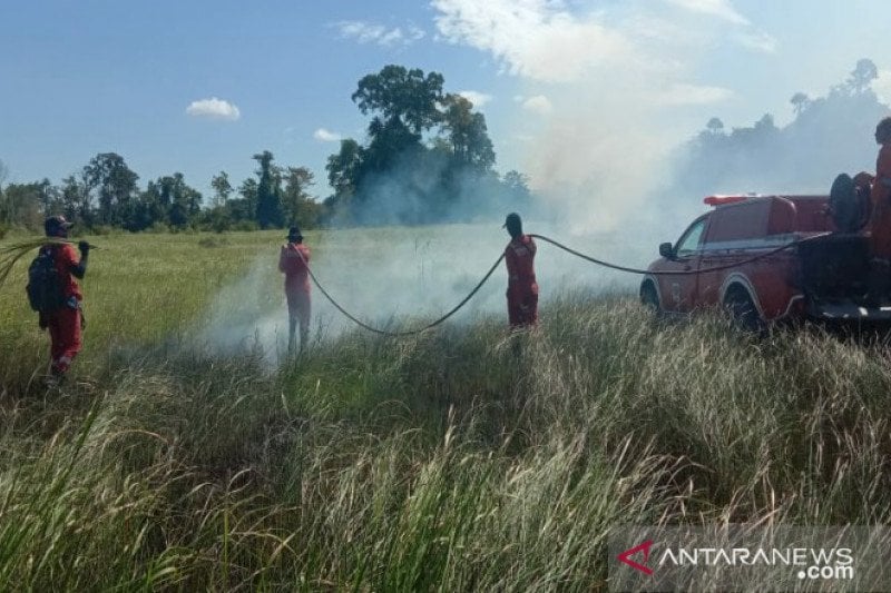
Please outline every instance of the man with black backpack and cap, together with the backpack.
[{"label": "man with black backpack and cap, together with the backpack", "polygon": [[[74,224],[62,216],[51,216],[43,221],[47,237],[65,239]],[[78,244],[80,258],[67,243],[48,243],[40,248],[28,270],[28,297],[31,308],[39,315],[41,329],[50,335],[50,370],[53,383],[60,382],[80,352],[80,330],[84,315],[80,293],[75,278],[84,278],[87,271],[90,245]]]}]

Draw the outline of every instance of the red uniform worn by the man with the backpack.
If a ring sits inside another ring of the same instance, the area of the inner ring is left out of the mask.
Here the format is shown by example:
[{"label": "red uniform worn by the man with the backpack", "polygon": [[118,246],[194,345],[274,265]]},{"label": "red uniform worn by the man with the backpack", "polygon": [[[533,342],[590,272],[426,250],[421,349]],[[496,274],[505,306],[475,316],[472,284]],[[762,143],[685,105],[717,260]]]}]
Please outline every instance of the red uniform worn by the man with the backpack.
[{"label": "red uniform worn by the man with the backpack", "polygon": [[68,372],[71,362],[81,348],[80,329],[82,316],[80,302],[82,295],[71,274],[71,268],[78,265],[78,258],[75,248],[68,244],[41,247],[41,250],[46,249],[52,250],[56,271],[66,298],[65,305],[52,313],[45,314],[41,323],[41,325],[46,324],[47,329],[49,329],[52,370],[61,374]]}]

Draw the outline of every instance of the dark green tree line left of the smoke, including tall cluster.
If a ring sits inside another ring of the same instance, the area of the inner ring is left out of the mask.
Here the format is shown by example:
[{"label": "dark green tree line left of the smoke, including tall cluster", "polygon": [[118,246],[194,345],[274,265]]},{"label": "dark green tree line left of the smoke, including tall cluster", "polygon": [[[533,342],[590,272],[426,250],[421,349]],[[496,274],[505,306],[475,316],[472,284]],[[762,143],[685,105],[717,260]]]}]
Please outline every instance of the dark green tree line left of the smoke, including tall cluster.
[{"label": "dark green tree line left of the smoke, including tall cluster", "polygon": [[210,179],[209,199],[182,172],[148,180],[116,152],[96,155],[60,184],[45,178],[6,184],[0,161],[0,227],[37,229],[63,214],[101,231],[281,228],[320,225],[425,224],[471,220],[531,202],[527,178],[495,171],[486,118],[460,95],[443,90],[438,72],[386,66],[363,77],[352,100],[370,116],[365,144],[341,141],[326,164],[332,194],[310,194],[313,172],[281,166],[264,150],[255,176],[234,186],[226,171]]}]

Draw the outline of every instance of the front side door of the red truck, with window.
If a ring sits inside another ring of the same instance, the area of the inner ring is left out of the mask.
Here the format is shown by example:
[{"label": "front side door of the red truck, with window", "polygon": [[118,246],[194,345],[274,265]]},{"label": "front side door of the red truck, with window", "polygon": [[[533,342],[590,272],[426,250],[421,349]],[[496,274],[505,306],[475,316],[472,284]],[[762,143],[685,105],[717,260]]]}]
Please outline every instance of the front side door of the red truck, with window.
[{"label": "front side door of the red truck, with window", "polygon": [[697,274],[695,271],[699,269],[707,223],[708,215],[694,220],[675,244],[674,258],[663,261],[659,266],[660,271],[692,273],[658,276],[663,307],[667,310],[687,313],[697,305]]}]

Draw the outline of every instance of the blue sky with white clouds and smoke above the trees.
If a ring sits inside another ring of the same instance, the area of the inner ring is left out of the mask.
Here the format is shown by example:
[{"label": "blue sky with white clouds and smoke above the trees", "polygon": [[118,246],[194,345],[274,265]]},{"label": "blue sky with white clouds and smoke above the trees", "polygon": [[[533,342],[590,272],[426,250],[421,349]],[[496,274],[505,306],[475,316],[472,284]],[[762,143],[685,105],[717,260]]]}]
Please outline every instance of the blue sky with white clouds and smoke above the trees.
[{"label": "blue sky with white clouds and smoke above the trees", "polygon": [[364,141],[358,80],[396,63],[474,102],[501,172],[578,206],[644,195],[713,116],[787,122],[861,58],[891,102],[889,22],[887,0],[0,0],[0,160],[59,182],[114,151],[209,197],[271,150],[324,198],[337,140]]}]

